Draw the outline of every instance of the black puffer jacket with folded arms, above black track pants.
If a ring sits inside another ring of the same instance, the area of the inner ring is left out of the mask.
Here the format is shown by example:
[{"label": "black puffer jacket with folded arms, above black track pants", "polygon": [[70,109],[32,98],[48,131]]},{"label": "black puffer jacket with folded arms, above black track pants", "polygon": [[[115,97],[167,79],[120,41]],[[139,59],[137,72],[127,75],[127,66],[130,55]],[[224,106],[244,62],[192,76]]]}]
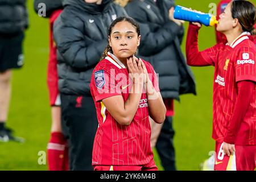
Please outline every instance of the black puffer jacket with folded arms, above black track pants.
[{"label": "black puffer jacket with folded arms, above black track pants", "polygon": [[64,0],[53,27],[61,93],[90,95],[90,77],[108,44],[108,28],[122,15],[125,10],[111,0],[103,0],[102,5]]}]

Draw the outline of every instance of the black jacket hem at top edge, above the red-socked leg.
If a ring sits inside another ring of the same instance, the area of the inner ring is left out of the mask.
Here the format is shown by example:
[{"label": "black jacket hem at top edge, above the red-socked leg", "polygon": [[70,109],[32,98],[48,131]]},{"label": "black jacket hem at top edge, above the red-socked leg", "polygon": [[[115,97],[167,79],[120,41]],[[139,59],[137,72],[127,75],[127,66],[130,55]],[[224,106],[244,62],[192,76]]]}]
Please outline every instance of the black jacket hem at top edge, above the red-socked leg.
[{"label": "black jacket hem at top edge, above the red-socked leg", "polygon": [[44,3],[44,5],[46,5],[46,16],[44,18],[49,18],[55,10],[63,9],[63,0],[35,0],[34,10],[37,14],[42,8],[40,3]]}]

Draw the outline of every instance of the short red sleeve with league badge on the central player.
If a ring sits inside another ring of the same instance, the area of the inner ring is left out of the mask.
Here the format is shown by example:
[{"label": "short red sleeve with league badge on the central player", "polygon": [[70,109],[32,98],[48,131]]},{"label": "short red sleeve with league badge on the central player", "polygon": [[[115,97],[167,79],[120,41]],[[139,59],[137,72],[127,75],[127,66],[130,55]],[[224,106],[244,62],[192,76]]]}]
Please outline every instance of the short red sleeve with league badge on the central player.
[{"label": "short red sleeve with league badge on the central player", "polygon": [[115,76],[111,76],[105,69],[97,69],[93,72],[90,89],[92,89],[91,92],[93,92],[92,95],[96,102],[104,98],[122,95],[121,89],[115,82]]}]

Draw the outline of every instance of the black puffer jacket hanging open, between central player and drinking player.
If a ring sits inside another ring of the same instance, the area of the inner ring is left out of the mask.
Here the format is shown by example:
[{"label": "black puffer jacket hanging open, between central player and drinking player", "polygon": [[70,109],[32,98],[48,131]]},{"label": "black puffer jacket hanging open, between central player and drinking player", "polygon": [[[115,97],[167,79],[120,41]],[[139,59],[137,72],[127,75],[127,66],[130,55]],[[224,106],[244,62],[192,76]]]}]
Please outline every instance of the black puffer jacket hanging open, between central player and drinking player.
[{"label": "black puffer jacket hanging open, between central player and drinking player", "polygon": [[159,87],[163,98],[179,100],[180,94],[196,94],[195,81],[187,66],[180,43],[184,28],[168,18],[171,0],[133,0],[125,6],[129,16],[141,27],[138,54],[150,61],[159,73]]}]

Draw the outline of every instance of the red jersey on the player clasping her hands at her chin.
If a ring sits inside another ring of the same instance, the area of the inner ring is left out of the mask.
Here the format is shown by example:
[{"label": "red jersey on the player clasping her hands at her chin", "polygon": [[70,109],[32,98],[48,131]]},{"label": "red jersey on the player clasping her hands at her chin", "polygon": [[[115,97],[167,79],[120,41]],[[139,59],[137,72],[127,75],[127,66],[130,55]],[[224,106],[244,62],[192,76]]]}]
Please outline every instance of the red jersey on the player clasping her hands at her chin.
[{"label": "red jersey on the player clasping her hands at her chin", "polygon": [[[159,92],[154,69],[146,61],[143,62],[152,75],[156,92]],[[99,123],[93,145],[93,166],[155,165],[150,146],[151,127],[146,93],[142,93],[137,113],[129,126],[119,125],[102,102],[104,98],[117,95],[126,102],[132,86],[130,83],[128,70],[112,53],[101,60],[93,71],[90,91]]]}]

